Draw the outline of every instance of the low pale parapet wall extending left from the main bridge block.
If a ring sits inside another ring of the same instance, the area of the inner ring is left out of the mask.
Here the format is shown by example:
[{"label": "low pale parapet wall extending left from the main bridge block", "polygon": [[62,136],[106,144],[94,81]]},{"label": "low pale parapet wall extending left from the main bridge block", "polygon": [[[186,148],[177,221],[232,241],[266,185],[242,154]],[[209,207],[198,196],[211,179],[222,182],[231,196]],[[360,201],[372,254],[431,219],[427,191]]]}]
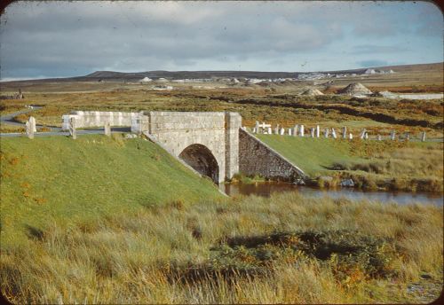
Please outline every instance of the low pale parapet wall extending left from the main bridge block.
[{"label": "low pale parapet wall extending left from the main bridge block", "polygon": [[74,111],[62,116],[61,128],[67,130],[69,119],[75,117],[75,126],[77,128],[103,127],[109,121],[111,126],[130,127],[139,117],[139,113],[123,113],[111,111]]}]

